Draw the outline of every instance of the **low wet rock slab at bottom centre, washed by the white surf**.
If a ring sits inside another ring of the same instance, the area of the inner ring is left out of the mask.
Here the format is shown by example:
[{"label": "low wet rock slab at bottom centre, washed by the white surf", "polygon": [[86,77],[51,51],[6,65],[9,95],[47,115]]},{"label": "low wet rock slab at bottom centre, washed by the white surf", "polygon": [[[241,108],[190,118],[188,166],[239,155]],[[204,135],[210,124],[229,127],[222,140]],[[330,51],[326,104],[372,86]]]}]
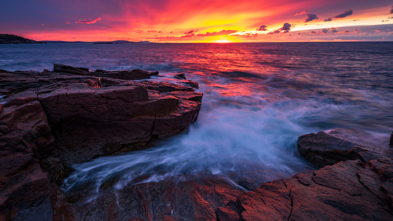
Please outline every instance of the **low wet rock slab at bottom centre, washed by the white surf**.
[{"label": "low wet rock slab at bottom centre, washed by the white surf", "polygon": [[171,177],[102,190],[88,203],[88,197],[82,197],[74,214],[77,220],[108,220],[113,214],[119,220],[216,220],[215,209],[241,193],[219,176]]}]

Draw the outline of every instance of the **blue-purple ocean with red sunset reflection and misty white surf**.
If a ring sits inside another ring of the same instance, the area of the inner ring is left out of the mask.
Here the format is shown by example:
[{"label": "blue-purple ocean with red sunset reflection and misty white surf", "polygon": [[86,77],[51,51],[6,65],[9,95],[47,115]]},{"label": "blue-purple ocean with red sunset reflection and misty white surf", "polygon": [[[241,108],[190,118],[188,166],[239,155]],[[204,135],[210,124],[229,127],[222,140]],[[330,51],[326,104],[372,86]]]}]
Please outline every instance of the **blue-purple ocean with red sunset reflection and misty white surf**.
[{"label": "blue-purple ocean with red sunset reflection and misty white surf", "polygon": [[[203,92],[197,123],[152,148],[74,164],[65,192],[108,179],[121,189],[201,173],[258,170],[260,184],[312,169],[300,135],[340,129],[388,148],[393,130],[393,42],[48,43],[0,45],[0,69],[185,73]],[[153,80],[166,80],[155,78]],[[141,178],[142,177],[142,178]],[[138,179],[139,178],[139,179]],[[94,189],[94,188],[93,188]]]}]

